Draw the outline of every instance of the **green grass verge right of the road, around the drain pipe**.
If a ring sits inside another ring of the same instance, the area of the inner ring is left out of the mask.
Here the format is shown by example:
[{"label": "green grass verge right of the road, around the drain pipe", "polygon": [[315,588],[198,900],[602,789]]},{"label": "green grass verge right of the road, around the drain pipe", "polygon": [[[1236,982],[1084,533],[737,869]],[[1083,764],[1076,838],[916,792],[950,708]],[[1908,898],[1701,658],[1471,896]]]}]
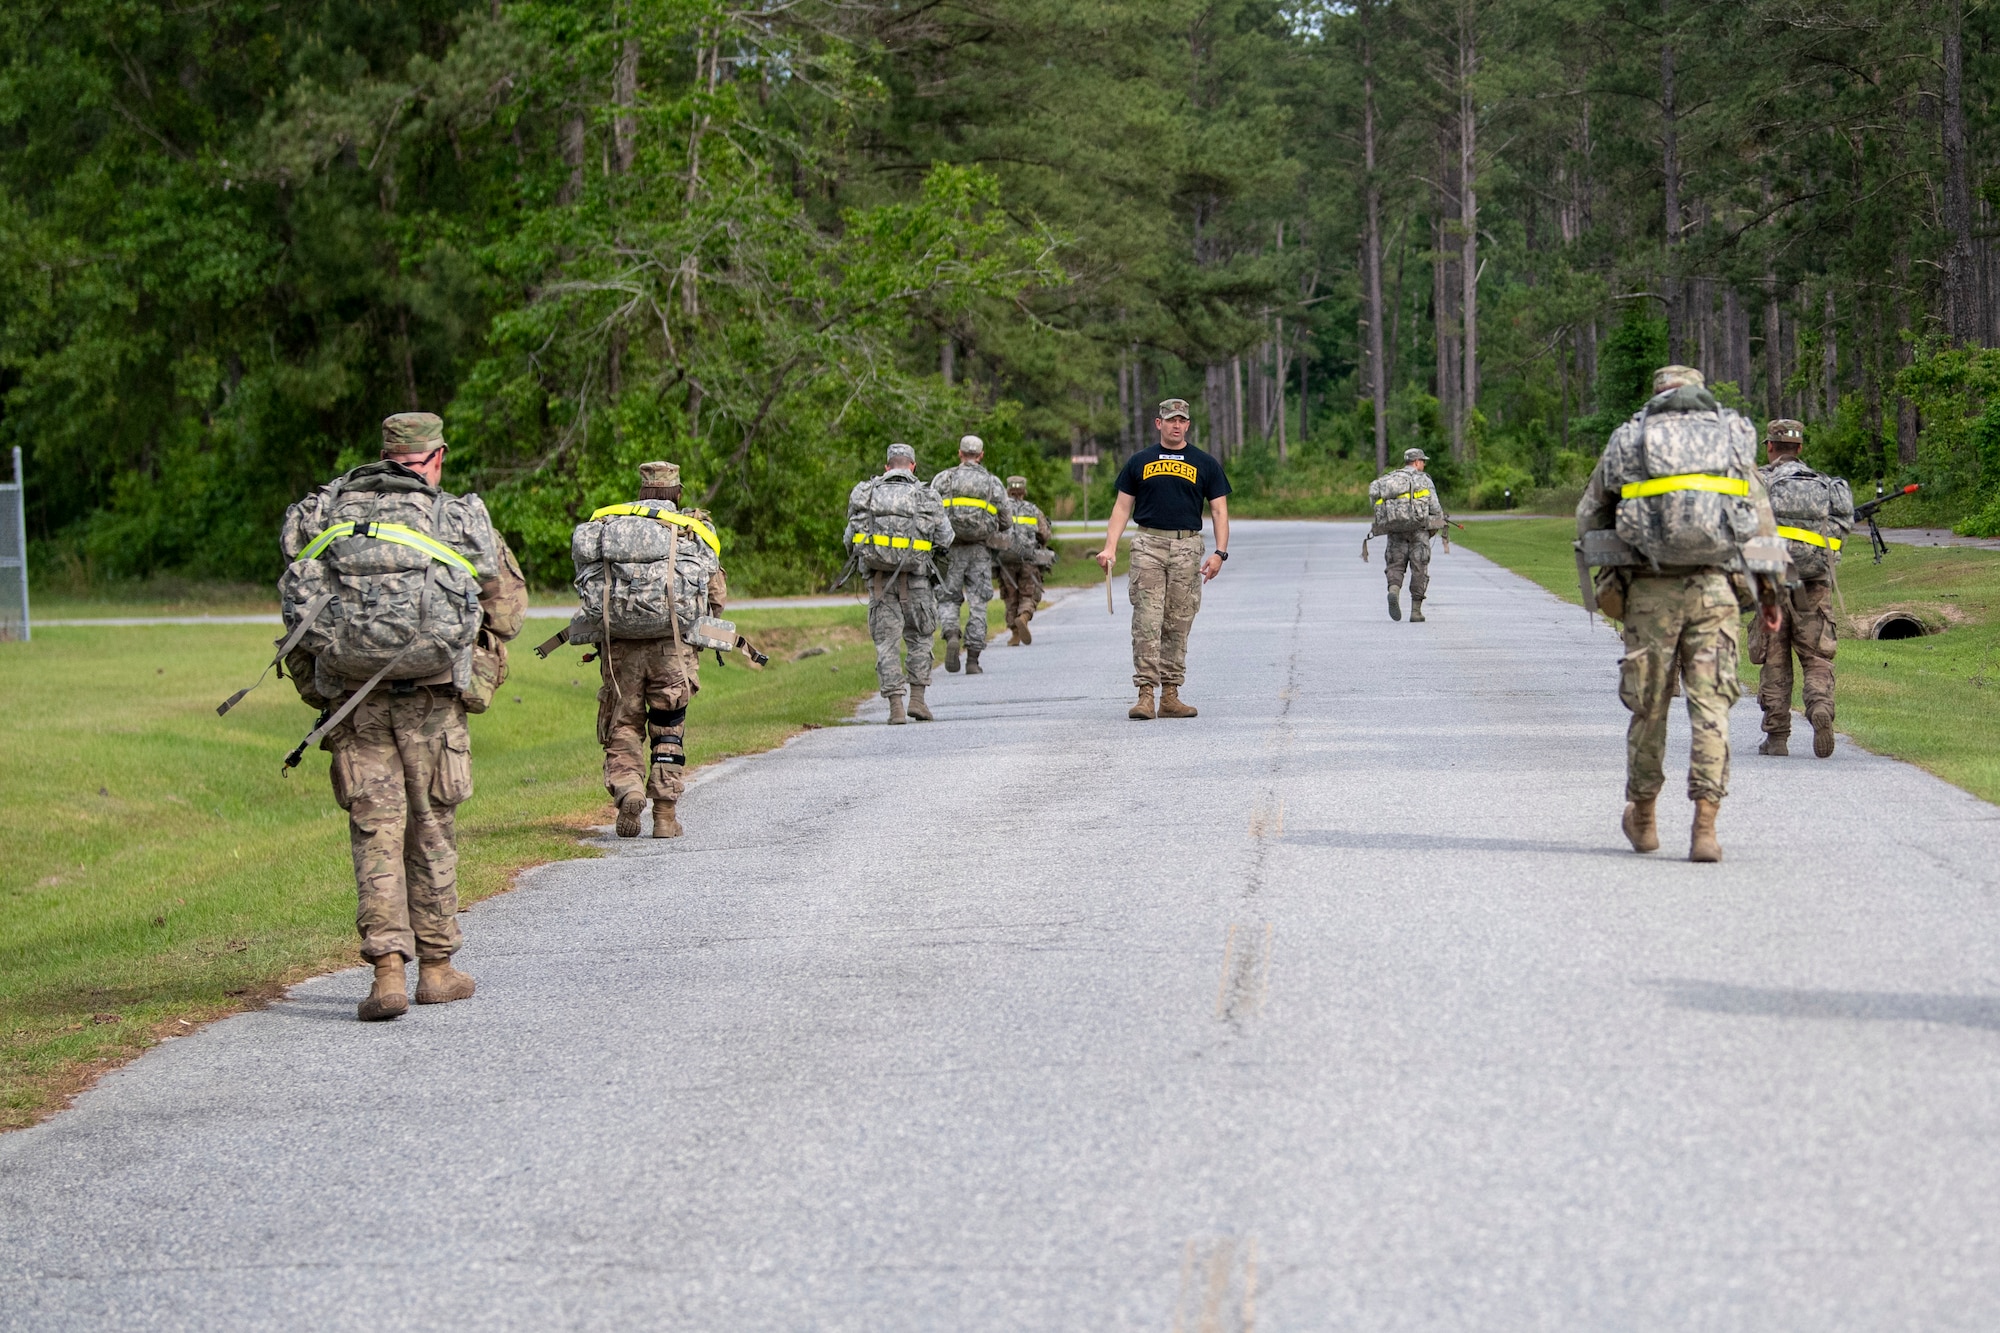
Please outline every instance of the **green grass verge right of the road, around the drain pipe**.
[{"label": "green grass verge right of the road, around the drain pipe", "polygon": [[[1506,518],[1452,532],[1454,542],[1580,606],[1574,536],[1570,518]],[[1872,564],[1866,532],[1852,552],[1840,564],[1840,731],[1982,801],[2000,801],[2000,552],[1890,544],[1882,564]],[[1890,608],[1950,628],[1924,638],[1858,636],[1860,622]],[[1742,671],[1750,695],[1758,669],[1746,658]]]}]

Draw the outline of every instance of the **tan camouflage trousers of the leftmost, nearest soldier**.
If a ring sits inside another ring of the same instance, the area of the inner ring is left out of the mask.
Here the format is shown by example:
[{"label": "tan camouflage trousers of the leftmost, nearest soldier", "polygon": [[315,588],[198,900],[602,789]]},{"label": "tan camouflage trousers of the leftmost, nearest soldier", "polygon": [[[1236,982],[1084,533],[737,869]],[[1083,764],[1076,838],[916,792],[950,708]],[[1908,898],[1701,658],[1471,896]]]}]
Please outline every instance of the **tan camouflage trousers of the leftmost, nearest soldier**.
[{"label": "tan camouflage trousers of the leftmost, nearest soldier", "polygon": [[454,691],[378,689],[326,733],[334,801],[348,813],[362,957],[458,953],[458,833],[472,737]]}]

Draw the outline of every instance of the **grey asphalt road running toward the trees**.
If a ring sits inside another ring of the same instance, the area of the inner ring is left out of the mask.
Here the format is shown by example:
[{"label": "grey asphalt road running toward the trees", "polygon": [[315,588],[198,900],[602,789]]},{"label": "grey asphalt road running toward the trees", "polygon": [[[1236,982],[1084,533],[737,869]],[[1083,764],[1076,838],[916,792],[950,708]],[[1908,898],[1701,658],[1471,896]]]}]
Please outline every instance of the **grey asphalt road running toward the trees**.
[{"label": "grey asphalt road running toward the trees", "polygon": [[1240,524],[1196,721],[1076,596],[472,911],[470,1003],[146,1055],[0,1139],[0,1325],[2000,1327],[2000,811],[1746,703],[1726,861],[1636,857],[1616,638],[1356,544]]}]

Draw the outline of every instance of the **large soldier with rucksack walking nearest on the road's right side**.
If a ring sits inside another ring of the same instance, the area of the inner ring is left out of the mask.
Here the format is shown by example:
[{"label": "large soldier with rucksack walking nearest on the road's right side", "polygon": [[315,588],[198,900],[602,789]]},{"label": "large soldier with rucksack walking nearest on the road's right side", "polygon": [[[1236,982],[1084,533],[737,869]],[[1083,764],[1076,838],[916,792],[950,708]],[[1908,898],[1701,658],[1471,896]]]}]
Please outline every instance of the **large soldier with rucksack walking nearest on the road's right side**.
[{"label": "large soldier with rucksack walking nearest on the road's right side", "polygon": [[[1666,366],[1652,392],[1612,430],[1576,504],[1576,532],[1616,530],[1636,550],[1634,562],[1598,578],[1598,604],[1624,620],[1626,839],[1642,853],[1660,847],[1656,801],[1678,677],[1694,733],[1688,861],[1722,861],[1716,815],[1730,783],[1730,705],[1742,695],[1738,616],[1756,604],[1742,554],[1748,538],[1774,538],[1776,522],[1756,476],[1756,428],[1716,402],[1700,370]],[[1762,584],[1766,632],[1780,624],[1772,582]]]}]

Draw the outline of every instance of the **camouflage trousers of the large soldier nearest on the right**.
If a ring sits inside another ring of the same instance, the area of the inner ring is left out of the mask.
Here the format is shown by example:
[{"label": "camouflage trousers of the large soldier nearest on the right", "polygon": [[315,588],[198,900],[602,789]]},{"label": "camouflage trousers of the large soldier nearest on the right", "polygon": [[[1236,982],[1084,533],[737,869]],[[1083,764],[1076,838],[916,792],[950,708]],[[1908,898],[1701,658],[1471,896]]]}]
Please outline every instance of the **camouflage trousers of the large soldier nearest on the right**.
[{"label": "camouflage trousers of the large soldier nearest on the right", "polygon": [[1688,697],[1688,799],[1722,801],[1730,791],[1730,705],[1736,681],[1736,592],[1718,570],[1640,576],[1626,592],[1618,699],[1632,711],[1626,729],[1626,801],[1650,801],[1666,787],[1666,713],[1674,681]]}]

